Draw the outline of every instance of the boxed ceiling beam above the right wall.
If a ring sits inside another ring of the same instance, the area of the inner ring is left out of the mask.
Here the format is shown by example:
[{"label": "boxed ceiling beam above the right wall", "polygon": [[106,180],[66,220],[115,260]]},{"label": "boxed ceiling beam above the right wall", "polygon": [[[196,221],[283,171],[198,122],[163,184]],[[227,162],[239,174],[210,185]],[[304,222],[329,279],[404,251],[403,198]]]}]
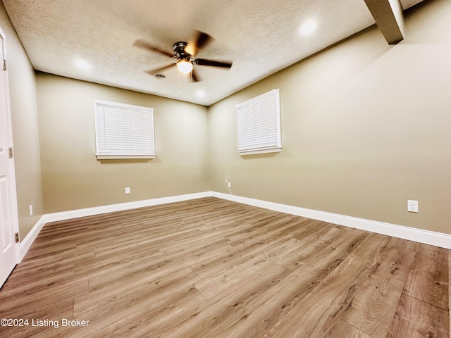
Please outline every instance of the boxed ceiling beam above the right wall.
[{"label": "boxed ceiling beam above the right wall", "polygon": [[400,0],[365,0],[388,44],[404,39],[404,17]]}]

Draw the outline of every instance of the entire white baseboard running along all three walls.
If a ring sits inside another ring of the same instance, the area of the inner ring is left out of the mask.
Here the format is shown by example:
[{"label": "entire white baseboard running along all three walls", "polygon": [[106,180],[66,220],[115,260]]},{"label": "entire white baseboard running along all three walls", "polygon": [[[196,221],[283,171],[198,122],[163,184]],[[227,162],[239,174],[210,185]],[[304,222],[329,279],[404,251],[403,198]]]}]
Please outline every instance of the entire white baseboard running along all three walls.
[{"label": "entire white baseboard running along all three walls", "polygon": [[[390,223],[378,222],[376,220],[366,220],[364,218],[355,218],[351,216],[339,215],[336,213],[326,213],[324,211],[311,210],[307,208],[299,208],[297,206],[288,206],[286,204],[278,204],[259,199],[249,199],[248,197],[223,194],[222,192],[199,192],[195,194],[185,194],[178,196],[161,197],[158,199],[147,199],[144,201],[135,201],[121,204],[111,204],[109,206],[96,206],[94,208],[84,208],[73,211],[62,211],[61,213],[48,213],[35,224],[32,230],[27,234],[25,239],[20,242],[19,259],[22,258],[30,249],[31,244],[35,241],[37,234],[41,231],[45,223],[56,222],[59,220],[70,220],[72,218],[85,217],[90,215],[99,215],[101,213],[112,213],[114,211],[123,211],[135,208],[143,208],[145,206],[156,206],[160,204],[168,204],[173,202],[188,201],[190,199],[201,199],[203,197],[216,197],[218,199],[226,199],[250,206],[266,208],[291,215],[298,215],[314,220],[322,220],[328,223],[344,225],[346,227],[354,227],[360,230],[376,232],[378,234],[386,234],[409,241],[440,246],[441,248],[451,249],[451,234],[443,234],[441,232],[433,232],[428,230],[416,229],[413,227],[404,227],[403,225],[395,225]],[[18,263],[20,263],[20,261]]]}]

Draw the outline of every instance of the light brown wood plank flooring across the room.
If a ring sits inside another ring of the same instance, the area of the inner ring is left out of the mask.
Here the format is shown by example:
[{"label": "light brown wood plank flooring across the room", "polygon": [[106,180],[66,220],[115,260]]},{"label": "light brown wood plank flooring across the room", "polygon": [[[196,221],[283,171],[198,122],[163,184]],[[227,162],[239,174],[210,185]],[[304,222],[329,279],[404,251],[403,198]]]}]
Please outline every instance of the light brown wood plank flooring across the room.
[{"label": "light brown wood plank flooring across the room", "polygon": [[45,225],[0,289],[28,325],[0,337],[449,338],[450,269],[446,249],[197,199]]}]

